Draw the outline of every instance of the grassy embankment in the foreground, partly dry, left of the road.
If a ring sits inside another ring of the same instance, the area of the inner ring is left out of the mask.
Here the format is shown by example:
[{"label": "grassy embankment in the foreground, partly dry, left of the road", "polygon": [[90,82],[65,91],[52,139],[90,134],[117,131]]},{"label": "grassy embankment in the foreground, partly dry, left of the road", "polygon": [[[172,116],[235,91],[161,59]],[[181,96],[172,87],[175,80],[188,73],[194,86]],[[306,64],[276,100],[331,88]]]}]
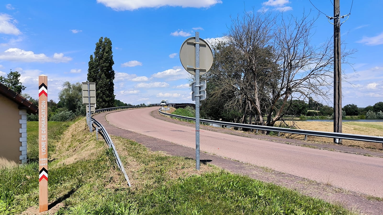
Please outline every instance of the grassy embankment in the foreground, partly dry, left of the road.
[{"label": "grassy embankment in the foreground, partly dry, left of the road", "polygon": [[[105,142],[95,140],[94,132],[88,132],[85,119],[68,125],[48,124],[49,203],[59,206],[50,214],[355,214],[211,165],[196,171],[189,158],[112,137],[133,185],[128,187],[113,154]],[[37,127],[29,122],[28,127],[28,156],[34,160]],[[0,170],[0,214],[17,214],[37,205],[36,161]]]}]

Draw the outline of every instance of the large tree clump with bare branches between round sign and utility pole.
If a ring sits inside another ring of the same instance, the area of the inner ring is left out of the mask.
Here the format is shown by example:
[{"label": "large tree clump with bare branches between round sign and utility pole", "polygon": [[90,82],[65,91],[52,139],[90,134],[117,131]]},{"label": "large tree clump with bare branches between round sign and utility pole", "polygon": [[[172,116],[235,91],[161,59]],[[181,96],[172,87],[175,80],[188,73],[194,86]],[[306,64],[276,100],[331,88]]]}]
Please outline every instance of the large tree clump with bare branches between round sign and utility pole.
[{"label": "large tree clump with bare branches between round sign and utility pole", "polygon": [[242,114],[234,121],[243,123],[254,113],[257,124],[267,126],[281,120],[293,101],[308,96],[327,99],[332,86],[332,40],[313,45],[318,17],[309,17],[253,11],[232,19],[227,41],[214,46],[214,64],[205,74],[209,84],[217,86],[209,98],[230,92],[224,107]]}]

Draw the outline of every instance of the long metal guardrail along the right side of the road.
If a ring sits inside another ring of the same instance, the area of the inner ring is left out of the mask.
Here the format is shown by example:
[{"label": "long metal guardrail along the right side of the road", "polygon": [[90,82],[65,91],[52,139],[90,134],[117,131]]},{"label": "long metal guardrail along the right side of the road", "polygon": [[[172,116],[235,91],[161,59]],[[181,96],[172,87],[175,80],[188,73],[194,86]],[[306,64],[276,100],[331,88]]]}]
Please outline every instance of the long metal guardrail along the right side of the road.
[{"label": "long metal guardrail along the right side of the road", "polygon": [[[193,118],[193,117],[168,114],[168,113],[162,112],[161,109],[159,109],[158,111],[161,114],[164,114],[167,116],[172,116],[172,117],[177,117],[180,119],[188,119],[191,121],[195,121],[195,118]],[[206,123],[218,124],[218,125],[226,125],[226,126],[232,126],[232,127],[247,128],[247,129],[267,130],[267,131],[290,133],[290,134],[301,134],[301,135],[305,135],[305,140],[306,140],[307,136],[317,136],[317,137],[328,137],[328,138],[338,138],[338,139],[346,139],[346,140],[357,140],[357,141],[365,141],[365,142],[383,143],[383,137],[380,137],[380,136],[345,134],[345,133],[324,132],[324,131],[314,131],[314,130],[286,129],[286,128],[270,127],[270,126],[262,126],[262,125],[249,125],[249,124],[241,124],[241,123],[234,123],[234,122],[222,122],[222,121],[215,121],[215,120],[209,120],[209,119],[200,119],[200,122],[206,122]]]}]

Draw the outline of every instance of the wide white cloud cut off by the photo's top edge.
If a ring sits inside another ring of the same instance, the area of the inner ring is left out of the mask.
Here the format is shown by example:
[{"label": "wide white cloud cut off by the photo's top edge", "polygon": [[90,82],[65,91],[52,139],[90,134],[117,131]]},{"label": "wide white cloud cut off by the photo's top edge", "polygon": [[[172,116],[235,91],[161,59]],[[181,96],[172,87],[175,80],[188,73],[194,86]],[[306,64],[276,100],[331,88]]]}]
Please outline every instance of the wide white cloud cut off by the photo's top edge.
[{"label": "wide white cloud cut off by the photo's top edge", "polygon": [[106,7],[113,8],[114,10],[136,10],[138,8],[158,8],[164,6],[171,7],[210,7],[217,3],[222,3],[221,0],[97,0]]}]

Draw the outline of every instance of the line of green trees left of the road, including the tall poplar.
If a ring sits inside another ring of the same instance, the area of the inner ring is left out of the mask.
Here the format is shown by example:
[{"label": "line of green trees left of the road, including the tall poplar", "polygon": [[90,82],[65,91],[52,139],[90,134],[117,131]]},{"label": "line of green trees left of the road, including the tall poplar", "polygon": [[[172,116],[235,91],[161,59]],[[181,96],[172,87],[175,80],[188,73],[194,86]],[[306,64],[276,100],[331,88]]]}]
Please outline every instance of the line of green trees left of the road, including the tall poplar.
[{"label": "line of green trees left of the road, including the tall poplar", "polygon": [[[133,106],[115,99],[113,83],[115,71],[112,68],[113,64],[112,42],[108,37],[100,37],[93,55],[90,55],[87,80],[96,83],[97,109]],[[18,94],[25,90],[25,86],[20,82],[20,73],[17,71],[10,70],[7,77],[0,76],[0,83],[8,86]],[[29,94],[21,94],[21,96],[38,106],[38,99]],[[68,121],[79,116],[85,116],[85,105],[82,104],[82,83],[65,81],[58,97],[58,103],[52,99],[48,102],[48,119],[50,121]],[[137,106],[145,106],[145,104],[141,103]],[[38,121],[38,115],[28,115],[27,120]]]}]

